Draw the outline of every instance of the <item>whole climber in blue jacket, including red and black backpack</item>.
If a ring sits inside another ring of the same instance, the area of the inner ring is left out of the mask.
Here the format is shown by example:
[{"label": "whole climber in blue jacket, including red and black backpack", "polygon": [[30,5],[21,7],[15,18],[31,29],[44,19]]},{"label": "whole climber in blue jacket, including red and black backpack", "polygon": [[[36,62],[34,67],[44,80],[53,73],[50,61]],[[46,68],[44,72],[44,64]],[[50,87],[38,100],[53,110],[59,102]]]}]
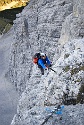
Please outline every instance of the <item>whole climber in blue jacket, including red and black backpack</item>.
[{"label": "whole climber in blue jacket, including red and black backpack", "polygon": [[51,67],[51,62],[44,53],[36,53],[33,57],[33,63],[38,65],[42,75],[44,75],[44,70]]}]

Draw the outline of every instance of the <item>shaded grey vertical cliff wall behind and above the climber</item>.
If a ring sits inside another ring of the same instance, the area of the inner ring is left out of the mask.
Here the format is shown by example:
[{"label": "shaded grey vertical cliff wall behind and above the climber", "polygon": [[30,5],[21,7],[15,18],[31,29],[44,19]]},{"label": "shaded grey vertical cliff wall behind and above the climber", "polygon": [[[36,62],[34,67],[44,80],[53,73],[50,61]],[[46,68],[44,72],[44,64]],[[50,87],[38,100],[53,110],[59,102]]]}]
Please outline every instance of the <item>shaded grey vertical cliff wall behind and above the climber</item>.
[{"label": "shaded grey vertical cliff wall behind and above the climber", "polygon": [[[32,55],[45,52],[51,60],[58,50],[62,22],[72,12],[71,1],[30,1],[14,21],[14,45],[11,55],[11,80],[24,90],[32,74]],[[22,91],[21,90],[21,91]]]}]

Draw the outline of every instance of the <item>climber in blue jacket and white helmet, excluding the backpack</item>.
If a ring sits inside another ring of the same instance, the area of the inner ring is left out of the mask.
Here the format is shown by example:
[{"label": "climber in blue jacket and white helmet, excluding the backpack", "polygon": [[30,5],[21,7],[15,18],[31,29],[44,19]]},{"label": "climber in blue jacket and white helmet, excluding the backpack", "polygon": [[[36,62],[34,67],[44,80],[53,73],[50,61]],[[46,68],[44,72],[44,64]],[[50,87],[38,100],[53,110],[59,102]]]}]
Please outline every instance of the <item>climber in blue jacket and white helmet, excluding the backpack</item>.
[{"label": "climber in blue jacket and white helmet, excluding the backpack", "polygon": [[44,75],[44,70],[51,67],[51,62],[44,53],[40,53],[40,57],[38,60],[38,68],[40,68],[42,75]]}]

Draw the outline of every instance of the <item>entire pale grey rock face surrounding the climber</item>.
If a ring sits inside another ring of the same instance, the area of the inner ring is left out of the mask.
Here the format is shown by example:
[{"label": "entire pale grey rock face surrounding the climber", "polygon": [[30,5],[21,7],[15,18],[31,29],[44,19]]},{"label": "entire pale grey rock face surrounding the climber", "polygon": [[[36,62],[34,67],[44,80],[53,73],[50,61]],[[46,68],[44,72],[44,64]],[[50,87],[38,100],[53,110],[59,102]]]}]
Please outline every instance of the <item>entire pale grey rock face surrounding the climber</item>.
[{"label": "entire pale grey rock face surrounding the climber", "polygon": [[[46,106],[66,104],[64,94],[73,94],[75,104],[81,102],[78,94],[84,85],[83,4],[83,0],[31,0],[17,15],[9,76],[21,96],[11,125],[41,125],[48,115]],[[40,75],[32,63],[32,56],[38,51],[49,56],[56,72],[49,70]],[[61,122],[54,115],[46,124],[83,125],[84,111],[81,114],[78,110],[83,107],[78,104],[68,110],[65,106]]]}]

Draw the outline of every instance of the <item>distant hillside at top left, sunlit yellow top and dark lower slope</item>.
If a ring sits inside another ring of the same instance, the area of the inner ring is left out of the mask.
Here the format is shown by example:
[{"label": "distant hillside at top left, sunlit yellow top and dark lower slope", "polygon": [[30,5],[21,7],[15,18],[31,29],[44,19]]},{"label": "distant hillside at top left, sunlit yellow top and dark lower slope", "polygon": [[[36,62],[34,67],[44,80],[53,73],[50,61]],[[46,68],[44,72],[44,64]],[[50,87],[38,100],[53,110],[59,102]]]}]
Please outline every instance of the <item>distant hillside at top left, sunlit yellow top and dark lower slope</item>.
[{"label": "distant hillside at top left, sunlit yellow top and dark lower slope", "polygon": [[[24,6],[26,6],[29,0],[22,2],[22,0],[0,0],[0,7],[10,4],[11,2],[18,2],[11,7],[0,11],[0,34],[6,33],[13,25],[13,20],[16,19],[16,14],[20,13]],[[17,8],[18,7],[18,8]]]}]

